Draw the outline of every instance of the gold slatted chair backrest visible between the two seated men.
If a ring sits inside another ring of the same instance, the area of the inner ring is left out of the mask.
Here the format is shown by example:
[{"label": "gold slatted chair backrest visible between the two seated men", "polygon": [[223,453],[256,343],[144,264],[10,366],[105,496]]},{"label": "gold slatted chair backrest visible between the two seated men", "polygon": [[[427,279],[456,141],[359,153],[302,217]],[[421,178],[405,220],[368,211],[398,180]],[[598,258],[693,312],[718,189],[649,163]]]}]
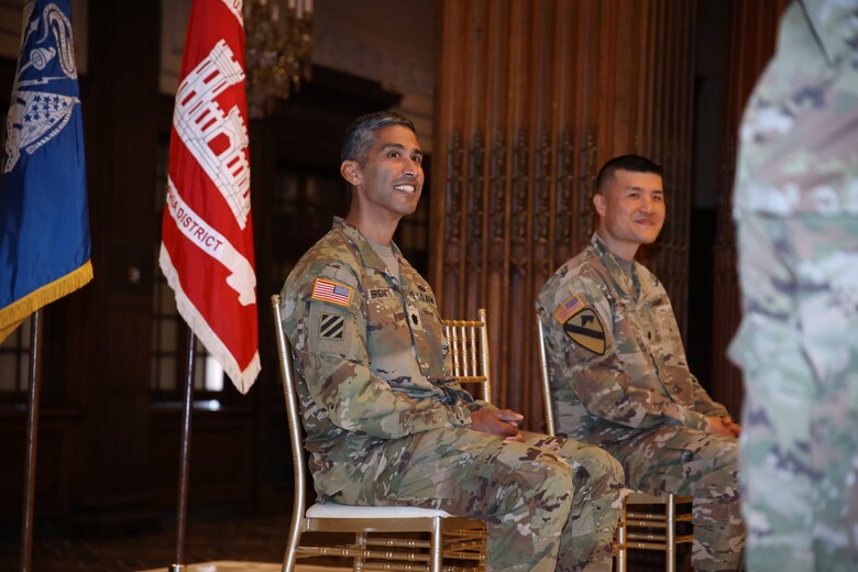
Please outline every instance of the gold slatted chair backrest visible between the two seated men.
[{"label": "gold slatted chair backrest visible between the two seated men", "polygon": [[476,310],[476,320],[442,320],[443,331],[450,344],[452,376],[465,389],[471,391],[470,385],[479,385],[482,389],[482,395],[479,397],[486,403],[492,403],[485,308]]}]

